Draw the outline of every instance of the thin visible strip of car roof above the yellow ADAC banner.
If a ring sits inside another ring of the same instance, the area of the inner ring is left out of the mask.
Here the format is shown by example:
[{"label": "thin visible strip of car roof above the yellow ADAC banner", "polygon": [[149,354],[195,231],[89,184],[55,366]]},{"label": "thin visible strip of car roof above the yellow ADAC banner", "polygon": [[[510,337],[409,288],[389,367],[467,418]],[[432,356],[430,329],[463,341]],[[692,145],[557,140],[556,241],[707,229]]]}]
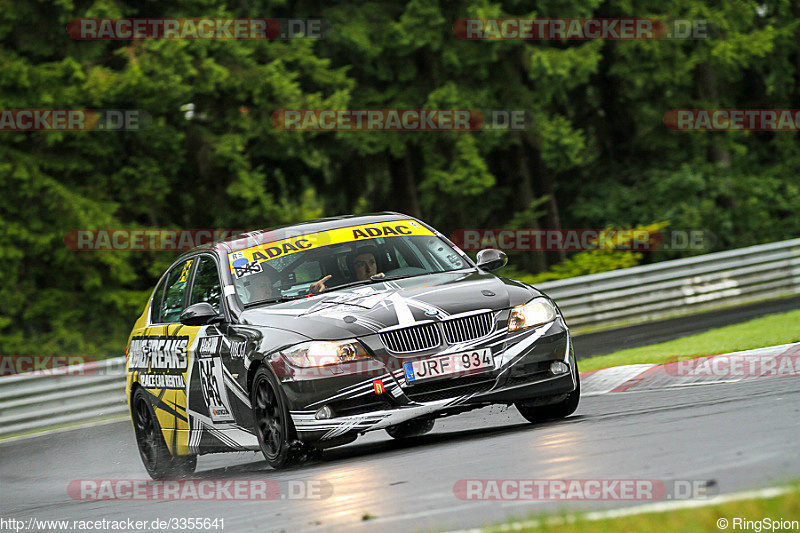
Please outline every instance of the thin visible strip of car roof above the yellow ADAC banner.
[{"label": "thin visible strip of car roof above the yellow ADAC banner", "polygon": [[379,224],[381,222],[392,222],[396,220],[408,219],[417,220],[409,215],[396,213],[394,211],[368,213],[365,215],[342,215],[338,217],[320,218],[317,220],[310,220],[308,222],[301,222],[299,224],[291,224],[287,226],[279,226],[275,228],[267,228],[248,233],[242,233],[227,239],[216,241],[212,244],[198,246],[184,255],[193,254],[198,251],[212,250],[218,253],[228,254],[250,248],[251,246],[266,244],[288,237],[297,237],[300,235],[307,235],[309,233],[346,228],[349,226],[358,226],[361,224]]}]

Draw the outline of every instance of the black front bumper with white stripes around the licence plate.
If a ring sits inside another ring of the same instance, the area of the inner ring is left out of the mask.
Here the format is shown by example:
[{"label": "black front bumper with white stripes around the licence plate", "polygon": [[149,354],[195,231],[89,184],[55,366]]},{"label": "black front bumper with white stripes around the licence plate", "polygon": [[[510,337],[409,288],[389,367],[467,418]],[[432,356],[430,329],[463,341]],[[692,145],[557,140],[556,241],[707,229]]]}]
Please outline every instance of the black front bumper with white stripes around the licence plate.
[{"label": "black front bumper with white stripes around the licence plate", "polygon": [[[332,369],[284,372],[281,381],[298,438],[321,444],[349,440],[359,433],[414,418],[438,418],[493,403],[558,397],[577,386],[572,342],[560,316],[522,332],[495,331],[462,349],[481,348],[491,348],[493,369],[420,383],[407,383],[402,364],[391,364],[386,358],[353,363],[335,369],[337,374]],[[566,362],[568,372],[553,375],[550,365],[554,361]],[[317,419],[323,406],[332,409],[331,418]]]}]

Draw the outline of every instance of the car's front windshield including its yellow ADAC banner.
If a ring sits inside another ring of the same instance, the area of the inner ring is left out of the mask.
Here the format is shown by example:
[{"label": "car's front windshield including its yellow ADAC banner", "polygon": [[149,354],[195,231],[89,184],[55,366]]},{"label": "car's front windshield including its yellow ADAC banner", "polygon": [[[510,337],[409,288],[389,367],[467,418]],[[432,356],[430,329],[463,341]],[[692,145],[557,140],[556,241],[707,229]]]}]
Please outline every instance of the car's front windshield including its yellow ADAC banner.
[{"label": "car's front windshield including its yellow ADAC banner", "polygon": [[412,220],[351,226],[259,244],[228,254],[244,305],[337,287],[469,268],[461,250]]}]

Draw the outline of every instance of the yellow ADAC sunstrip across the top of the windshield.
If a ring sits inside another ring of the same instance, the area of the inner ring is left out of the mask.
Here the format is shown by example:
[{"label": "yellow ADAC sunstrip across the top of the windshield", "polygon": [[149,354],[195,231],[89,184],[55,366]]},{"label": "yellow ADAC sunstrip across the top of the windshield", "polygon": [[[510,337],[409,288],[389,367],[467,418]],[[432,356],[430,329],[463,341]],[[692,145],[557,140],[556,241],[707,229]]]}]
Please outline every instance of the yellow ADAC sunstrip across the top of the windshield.
[{"label": "yellow ADAC sunstrip across the top of the windshield", "polygon": [[228,254],[231,274],[240,278],[248,274],[260,272],[259,263],[276,257],[284,257],[295,252],[311,250],[331,244],[356,242],[376,237],[405,237],[413,235],[435,236],[435,234],[414,220],[395,220],[377,222],[347,228],[331,229],[308,235],[298,235],[280,241],[251,246],[239,252]]}]

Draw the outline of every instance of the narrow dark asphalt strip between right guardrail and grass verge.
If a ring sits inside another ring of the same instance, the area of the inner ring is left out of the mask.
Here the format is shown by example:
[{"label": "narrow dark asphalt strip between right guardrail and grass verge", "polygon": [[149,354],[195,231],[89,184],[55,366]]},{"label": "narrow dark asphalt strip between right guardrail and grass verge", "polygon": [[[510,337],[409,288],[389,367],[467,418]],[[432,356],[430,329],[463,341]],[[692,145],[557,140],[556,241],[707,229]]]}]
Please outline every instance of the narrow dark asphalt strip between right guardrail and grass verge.
[{"label": "narrow dark asphalt strip between right guardrail and grass verge", "polygon": [[800,297],[792,296],[576,335],[573,337],[575,356],[578,359],[586,359],[617,350],[671,341],[710,329],[797,309],[800,309]]}]

